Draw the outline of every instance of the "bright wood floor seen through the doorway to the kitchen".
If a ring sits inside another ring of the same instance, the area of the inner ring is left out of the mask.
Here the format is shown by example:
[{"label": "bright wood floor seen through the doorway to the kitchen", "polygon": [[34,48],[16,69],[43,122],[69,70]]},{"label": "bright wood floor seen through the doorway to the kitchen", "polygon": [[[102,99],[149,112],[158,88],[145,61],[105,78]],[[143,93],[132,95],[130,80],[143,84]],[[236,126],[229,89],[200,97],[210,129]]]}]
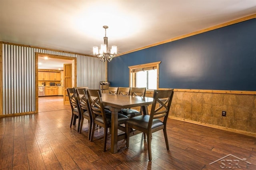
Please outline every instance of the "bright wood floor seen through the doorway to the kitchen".
[{"label": "bright wood floor seen through the doorway to the kitchen", "polygon": [[70,109],[70,105],[63,104],[63,96],[38,97],[38,113]]}]

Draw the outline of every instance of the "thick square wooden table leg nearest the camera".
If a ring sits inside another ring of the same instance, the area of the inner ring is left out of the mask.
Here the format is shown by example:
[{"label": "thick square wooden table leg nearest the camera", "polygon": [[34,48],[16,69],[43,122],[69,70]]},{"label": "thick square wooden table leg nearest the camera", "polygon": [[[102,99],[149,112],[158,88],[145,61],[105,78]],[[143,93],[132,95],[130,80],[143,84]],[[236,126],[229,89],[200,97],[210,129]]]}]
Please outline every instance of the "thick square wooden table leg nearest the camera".
[{"label": "thick square wooden table leg nearest the camera", "polygon": [[110,107],[111,111],[111,152],[115,154],[117,152],[117,130],[118,130],[118,111],[114,107]]}]

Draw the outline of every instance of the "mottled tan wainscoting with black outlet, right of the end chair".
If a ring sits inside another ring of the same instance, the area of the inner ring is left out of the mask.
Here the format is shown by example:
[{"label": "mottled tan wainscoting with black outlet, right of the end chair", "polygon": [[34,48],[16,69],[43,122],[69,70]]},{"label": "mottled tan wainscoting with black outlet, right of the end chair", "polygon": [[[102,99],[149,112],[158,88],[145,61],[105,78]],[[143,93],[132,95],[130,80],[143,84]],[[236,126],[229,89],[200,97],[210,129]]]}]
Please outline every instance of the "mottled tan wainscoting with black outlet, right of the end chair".
[{"label": "mottled tan wainscoting with black outlet, right of the end chair", "polygon": [[[174,91],[171,119],[256,136],[255,91]],[[222,116],[222,111],[226,111],[226,117]]]}]

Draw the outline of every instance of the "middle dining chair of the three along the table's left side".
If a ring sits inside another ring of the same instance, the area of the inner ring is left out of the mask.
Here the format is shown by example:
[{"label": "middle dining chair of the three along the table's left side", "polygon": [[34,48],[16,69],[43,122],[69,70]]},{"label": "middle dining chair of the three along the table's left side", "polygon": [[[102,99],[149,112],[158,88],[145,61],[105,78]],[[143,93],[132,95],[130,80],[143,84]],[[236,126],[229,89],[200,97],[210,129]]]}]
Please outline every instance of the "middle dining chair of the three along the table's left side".
[{"label": "middle dining chair of the three along the table's left side", "polygon": [[82,127],[84,123],[84,119],[88,120],[88,140],[90,140],[91,133],[92,133],[92,114],[90,111],[90,107],[88,105],[88,97],[84,95],[84,90],[86,91],[87,88],[76,88],[78,104],[81,110],[81,123],[80,123],[80,130],[79,133],[82,132]]}]

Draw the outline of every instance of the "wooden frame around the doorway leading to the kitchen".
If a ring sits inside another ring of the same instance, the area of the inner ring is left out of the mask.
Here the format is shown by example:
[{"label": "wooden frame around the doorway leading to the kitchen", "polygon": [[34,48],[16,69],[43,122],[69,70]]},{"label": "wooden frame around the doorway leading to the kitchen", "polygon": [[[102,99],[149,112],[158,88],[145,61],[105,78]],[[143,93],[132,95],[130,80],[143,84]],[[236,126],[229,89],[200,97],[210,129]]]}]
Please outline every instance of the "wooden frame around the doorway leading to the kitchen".
[{"label": "wooden frame around the doorway leading to the kitchen", "polygon": [[[47,56],[49,58],[56,58],[56,59],[68,59],[68,60],[73,60],[72,62],[72,85],[74,85],[74,87],[76,87],[76,74],[77,74],[77,70],[76,70],[76,57],[66,57],[66,56],[62,56],[62,55],[53,55],[53,54],[46,54],[46,53],[38,53],[35,52],[35,92],[36,92],[36,113],[38,113],[38,55],[42,55],[42,56]],[[73,64],[74,63],[74,64]],[[74,67],[74,68],[73,68]],[[74,75],[74,76],[73,76]]]}]

